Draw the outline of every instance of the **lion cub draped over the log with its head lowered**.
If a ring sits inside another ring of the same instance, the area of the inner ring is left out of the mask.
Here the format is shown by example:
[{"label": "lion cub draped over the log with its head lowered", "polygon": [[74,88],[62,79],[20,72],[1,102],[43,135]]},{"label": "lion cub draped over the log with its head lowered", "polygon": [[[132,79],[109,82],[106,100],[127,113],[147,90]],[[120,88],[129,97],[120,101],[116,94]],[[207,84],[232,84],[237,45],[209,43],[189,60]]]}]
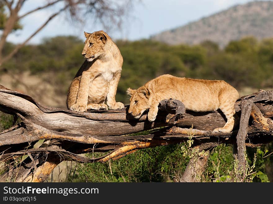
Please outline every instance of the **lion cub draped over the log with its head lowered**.
[{"label": "lion cub draped over the log with its head lowered", "polygon": [[154,121],[159,102],[163,99],[177,99],[191,111],[216,111],[218,108],[225,114],[227,122],[224,127],[214,132],[231,132],[234,125],[234,103],[239,98],[235,88],[225,81],[179,78],[162,75],[148,81],[137,90],[128,88],[131,95],[128,113],[140,118],[149,109],[148,120]]}]

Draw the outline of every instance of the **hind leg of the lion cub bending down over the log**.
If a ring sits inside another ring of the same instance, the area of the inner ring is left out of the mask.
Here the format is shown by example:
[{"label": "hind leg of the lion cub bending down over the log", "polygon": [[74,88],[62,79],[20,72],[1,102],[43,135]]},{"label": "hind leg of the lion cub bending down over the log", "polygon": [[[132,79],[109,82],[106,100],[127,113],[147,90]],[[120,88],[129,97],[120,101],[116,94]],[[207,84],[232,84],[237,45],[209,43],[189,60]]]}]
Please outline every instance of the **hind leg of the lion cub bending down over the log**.
[{"label": "hind leg of the lion cub bending down over the log", "polygon": [[238,98],[239,94],[236,89],[226,91],[219,96],[219,109],[225,114],[227,121],[224,127],[216,128],[213,130],[213,132],[229,133],[232,131],[234,126],[233,116],[235,114],[234,104]]}]

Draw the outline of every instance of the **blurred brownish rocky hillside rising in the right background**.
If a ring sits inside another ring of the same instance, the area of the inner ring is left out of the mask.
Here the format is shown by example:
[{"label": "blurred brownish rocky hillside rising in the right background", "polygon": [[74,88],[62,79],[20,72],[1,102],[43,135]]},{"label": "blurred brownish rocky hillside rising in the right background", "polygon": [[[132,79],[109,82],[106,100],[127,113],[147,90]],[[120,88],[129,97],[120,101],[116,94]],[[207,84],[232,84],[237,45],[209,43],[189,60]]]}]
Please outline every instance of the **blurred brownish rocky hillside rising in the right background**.
[{"label": "blurred brownish rocky hillside rising in the right background", "polygon": [[223,48],[244,36],[273,37],[273,1],[255,1],[230,7],[185,26],[164,31],[151,39],[168,44],[197,44],[211,40]]}]

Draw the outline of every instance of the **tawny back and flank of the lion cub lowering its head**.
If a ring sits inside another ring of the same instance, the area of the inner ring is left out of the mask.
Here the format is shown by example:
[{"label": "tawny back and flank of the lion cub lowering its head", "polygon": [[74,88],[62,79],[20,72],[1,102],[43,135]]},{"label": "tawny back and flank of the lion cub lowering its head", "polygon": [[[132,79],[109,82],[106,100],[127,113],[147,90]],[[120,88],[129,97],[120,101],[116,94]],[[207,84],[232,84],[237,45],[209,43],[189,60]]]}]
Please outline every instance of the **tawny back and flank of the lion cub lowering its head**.
[{"label": "tawny back and flank of the lion cub lowering its head", "polygon": [[234,104],[239,98],[237,90],[222,80],[161,75],[150,82],[156,87],[155,92],[169,93],[167,95],[180,100],[192,111],[216,111],[224,103]]}]

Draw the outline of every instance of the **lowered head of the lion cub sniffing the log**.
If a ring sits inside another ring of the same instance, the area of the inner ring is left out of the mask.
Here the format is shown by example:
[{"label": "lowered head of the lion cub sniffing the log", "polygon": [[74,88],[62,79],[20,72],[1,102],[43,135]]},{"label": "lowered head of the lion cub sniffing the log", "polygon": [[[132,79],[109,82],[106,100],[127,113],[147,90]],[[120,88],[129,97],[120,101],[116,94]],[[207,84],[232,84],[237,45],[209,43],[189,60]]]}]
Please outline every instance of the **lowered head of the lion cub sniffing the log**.
[{"label": "lowered head of the lion cub sniffing the log", "polygon": [[150,108],[150,92],[145,86],[141,86],[138,89],[128,88],[127,94],[131,96],[128,113],[138,119],[144,111]]}]

